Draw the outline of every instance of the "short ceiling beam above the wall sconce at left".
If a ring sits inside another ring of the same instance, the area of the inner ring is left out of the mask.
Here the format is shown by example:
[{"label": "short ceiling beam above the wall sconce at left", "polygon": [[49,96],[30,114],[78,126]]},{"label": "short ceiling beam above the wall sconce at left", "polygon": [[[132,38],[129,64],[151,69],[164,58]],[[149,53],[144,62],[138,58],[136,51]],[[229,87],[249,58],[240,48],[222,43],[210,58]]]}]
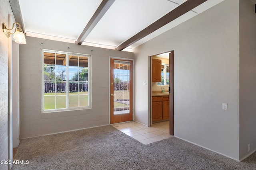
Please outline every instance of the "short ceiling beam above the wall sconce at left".
[{"label": "short ceiling beam above the wall sconce at left", "polygon": [[25,30],[24,23],[23,23],[23,20],[22,20],[22,15],[21,15],[21,12],[20,12],[19,0],[9,0],[9,1],[10,1],[10,5],[11,5],[11,8],[12,8],[12,13],[14,15],[15,21],[20,24],[20,27],[21,27],[23,33],[26,35],[26,30]]}]

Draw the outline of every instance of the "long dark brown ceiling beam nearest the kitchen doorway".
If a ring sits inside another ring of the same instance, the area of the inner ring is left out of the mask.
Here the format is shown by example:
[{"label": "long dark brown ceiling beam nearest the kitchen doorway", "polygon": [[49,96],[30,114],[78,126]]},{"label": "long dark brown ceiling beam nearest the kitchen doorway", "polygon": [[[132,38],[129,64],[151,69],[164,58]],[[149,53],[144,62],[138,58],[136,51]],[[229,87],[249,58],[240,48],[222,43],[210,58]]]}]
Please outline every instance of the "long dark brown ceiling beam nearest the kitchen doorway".
[{"label": "long dark brown ceiling beam nearest the kitchen doorway", "polygon": [[187,0],[186,2],[181,4],[180,6],[178,6],[177,8],[175,8],[174,10],[172,10],[171,12],[169,12],[168,14],[166,14],[165,16],[160,18],[159,20],[155,21],[154,23],[152,23],[151,25],[149,25],[148,27],[146,27],[145,29],[143,29],[142,31],[140,31],[139,33],[137,33],[136,35],[131,37],[130,39],[124,41],[122,44],[120,44],[118,47],[116,47],[116,50],[121,51],[121,50],[125,49],[126,47],[129,47],[133,43],[146,37],[150,33],[156,31],[160,27],[175,20],[176,18],[182,16],[183,14],[186,14],[188,11],[194,9],[195,7],[197,7],[198,5],[200,5],[206,1],[207,0]]}]

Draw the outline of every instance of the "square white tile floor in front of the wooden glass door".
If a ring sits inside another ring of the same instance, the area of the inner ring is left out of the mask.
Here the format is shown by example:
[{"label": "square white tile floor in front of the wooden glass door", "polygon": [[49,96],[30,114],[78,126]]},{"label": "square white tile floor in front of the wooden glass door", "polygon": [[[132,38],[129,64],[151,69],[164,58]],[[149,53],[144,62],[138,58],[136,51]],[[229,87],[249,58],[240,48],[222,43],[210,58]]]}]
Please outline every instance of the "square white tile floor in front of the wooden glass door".
[{"label": "square white tile floor in front of the wooden glass door", "polygon": [[153,123],[151,127],[135,121],[116,123],[112,126],[145,145],[173,137],[169,134],[169,121]]}]

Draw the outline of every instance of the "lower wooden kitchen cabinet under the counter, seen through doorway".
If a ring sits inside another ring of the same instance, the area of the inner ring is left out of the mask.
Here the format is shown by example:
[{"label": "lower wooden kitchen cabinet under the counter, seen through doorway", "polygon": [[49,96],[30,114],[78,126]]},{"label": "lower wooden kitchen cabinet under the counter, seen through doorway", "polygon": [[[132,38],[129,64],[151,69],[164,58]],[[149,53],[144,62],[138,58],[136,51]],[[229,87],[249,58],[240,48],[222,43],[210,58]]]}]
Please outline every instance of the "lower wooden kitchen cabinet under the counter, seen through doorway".
[{"label": "lower wooden kitchen cabinet under the counter, seen through doorway", "polygon": [[169,96],[152,97],[152,122],[169,119]]}]

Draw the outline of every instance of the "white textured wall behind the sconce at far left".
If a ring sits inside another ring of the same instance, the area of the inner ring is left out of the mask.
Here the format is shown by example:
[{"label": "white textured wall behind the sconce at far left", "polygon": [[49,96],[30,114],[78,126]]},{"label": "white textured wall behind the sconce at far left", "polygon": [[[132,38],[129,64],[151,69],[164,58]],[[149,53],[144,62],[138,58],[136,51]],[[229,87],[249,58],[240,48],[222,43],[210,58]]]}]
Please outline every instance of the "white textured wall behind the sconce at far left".
[{"label": "white textured wall behind the sconce at far left", "polygon": [[[2,31],[2,23],[8,26],[8,15],[14,18],[8,0],[0,1],[0,160],[8,160],[8,49],[12,40]],[[12,23],[11,23],[12,24]],[[7,170],[8,164],[0,164],[1,170]]]}]

